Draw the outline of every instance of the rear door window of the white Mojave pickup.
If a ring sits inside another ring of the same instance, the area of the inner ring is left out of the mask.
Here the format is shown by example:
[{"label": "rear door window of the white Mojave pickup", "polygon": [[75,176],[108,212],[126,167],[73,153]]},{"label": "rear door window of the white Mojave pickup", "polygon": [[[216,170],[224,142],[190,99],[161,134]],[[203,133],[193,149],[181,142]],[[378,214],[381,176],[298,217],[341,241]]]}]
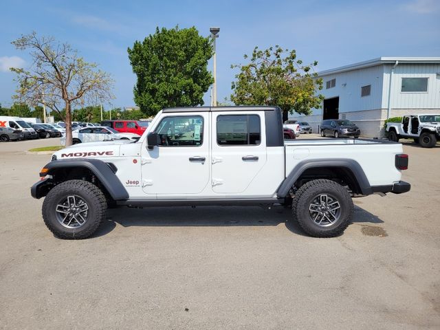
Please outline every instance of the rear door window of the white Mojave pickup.
[{"label": "rear door window of the white Mojave pickup", "polygon": [[219,115],[217,117],[217,144],[259,145],[261,122],[259,115]]}]

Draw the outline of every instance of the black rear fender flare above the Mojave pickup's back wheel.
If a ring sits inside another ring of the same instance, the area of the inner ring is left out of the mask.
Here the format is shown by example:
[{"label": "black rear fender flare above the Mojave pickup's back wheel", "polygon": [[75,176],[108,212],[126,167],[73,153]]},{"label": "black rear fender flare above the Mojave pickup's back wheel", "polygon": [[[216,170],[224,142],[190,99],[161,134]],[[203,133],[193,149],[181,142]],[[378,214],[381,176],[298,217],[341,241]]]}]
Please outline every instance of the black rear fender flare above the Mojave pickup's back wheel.
[{"label": "black rear fender flare above the Mojave pickup's back wheel", "polygon": [[283,183],[277,190],[278,197],[284,198],[287,196],[289,190],[294,186],[296,180],[309,168],[346,168],[351,170],[356,181],[358,181],[358,186],[362,195],[371,195],[373,194],[373,189],[370,186],[369,180],[366,178],[364,170],[362,166],[358,162],[353,159],[344,159],[344,158],[336,158],[336,159],[313,159],[313,160],[303,160],[296,164],[294,169],[287,175],[284,179]]}]

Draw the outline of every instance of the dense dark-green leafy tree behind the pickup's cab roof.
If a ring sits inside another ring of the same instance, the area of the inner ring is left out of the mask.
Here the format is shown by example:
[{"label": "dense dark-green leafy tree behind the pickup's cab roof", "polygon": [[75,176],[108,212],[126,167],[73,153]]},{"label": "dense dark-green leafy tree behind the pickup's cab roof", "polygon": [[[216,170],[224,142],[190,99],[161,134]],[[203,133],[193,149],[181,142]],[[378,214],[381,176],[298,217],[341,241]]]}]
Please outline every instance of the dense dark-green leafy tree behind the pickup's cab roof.
[{"label": "dense dark-green leafy tree behind the pickup's cab roof", "polygon": [[212,42],[195,27],[156,28],[128,52],[137,76],[135,103],[146,115],[166,107],[203,104],[203,94],[214,81],[207,69]]}]

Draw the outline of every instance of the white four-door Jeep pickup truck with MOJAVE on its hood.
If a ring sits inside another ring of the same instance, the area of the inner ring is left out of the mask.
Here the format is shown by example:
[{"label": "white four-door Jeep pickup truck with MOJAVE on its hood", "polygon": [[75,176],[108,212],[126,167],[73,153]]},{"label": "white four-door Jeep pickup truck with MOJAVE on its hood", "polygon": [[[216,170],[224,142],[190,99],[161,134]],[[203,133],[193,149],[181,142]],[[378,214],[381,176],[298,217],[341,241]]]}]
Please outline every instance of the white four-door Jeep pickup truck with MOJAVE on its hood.
[{"label": "white four-door Jeep pickup truck with MOJAVE on its hood", "polygon": [[63,239],[84,239],[107,206],[292,206],[307,234],[342,233],[351,197],[410,190],[408,155],[378,140],[283,139],[278,107],[160,111],[136,142],[75,144],[52,155],[31,188]]}]

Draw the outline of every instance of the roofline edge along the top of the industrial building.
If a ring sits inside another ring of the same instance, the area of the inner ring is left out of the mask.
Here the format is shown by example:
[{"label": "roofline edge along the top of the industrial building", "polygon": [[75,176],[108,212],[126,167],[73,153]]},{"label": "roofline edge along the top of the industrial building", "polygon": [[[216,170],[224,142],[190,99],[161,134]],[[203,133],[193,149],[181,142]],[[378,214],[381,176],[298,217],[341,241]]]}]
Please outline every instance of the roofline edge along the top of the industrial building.
[{"label": "roofline edge along the top of the industrial building", "polygon": [[318,77],[329,76],[330,74],[340,74],[357,69],[364,69],[366,67],[375,67],[377,65],[395,64],[440,64],[440,57],[378,57],[372,60],[344,65],[343,67],[336,67],[335,69],[328,69],[318,72]]}]

